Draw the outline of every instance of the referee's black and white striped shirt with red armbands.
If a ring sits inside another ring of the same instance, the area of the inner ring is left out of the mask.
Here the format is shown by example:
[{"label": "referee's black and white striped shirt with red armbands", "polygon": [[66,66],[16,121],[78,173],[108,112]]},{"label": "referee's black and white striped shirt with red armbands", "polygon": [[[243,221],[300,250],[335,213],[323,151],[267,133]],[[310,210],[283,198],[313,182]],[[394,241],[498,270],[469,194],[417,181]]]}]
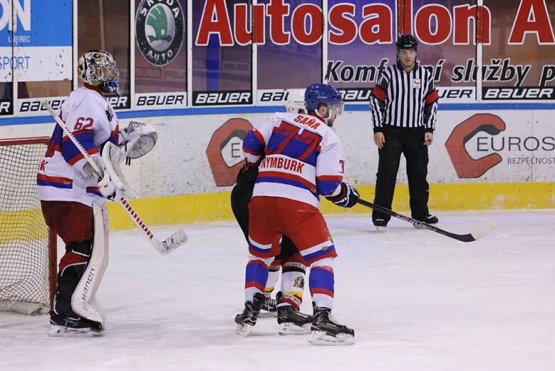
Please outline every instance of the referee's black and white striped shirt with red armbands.
[{"label": "referee's black and white striped shirt with red armbands", "polygon": [[434,77],[416,62],[411,72],[399,60],[379,75],[370,96],[370,113],[374,133],[385,125],[403,128],[424,127],[431,133],[436,128],[438,92]]}]

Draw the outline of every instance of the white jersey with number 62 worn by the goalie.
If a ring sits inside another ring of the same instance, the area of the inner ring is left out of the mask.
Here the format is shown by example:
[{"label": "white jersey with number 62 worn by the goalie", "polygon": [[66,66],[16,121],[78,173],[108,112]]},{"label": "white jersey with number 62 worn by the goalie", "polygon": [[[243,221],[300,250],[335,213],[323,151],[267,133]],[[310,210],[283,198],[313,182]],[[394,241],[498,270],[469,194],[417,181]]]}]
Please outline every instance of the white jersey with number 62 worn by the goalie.
[{"label": "white jersey with number 62 worn by the goalie", "polygon": [[[118,144],[116,113],[94,88],[83,86],[71,92],[60,108],[60,117],[92,158],[100,156],[105,142]],[[83,169],[86,163],[83,154],[56,124],[37,172],[39,199],[77,201],[88,206],[105,203],[96,177]]]}]

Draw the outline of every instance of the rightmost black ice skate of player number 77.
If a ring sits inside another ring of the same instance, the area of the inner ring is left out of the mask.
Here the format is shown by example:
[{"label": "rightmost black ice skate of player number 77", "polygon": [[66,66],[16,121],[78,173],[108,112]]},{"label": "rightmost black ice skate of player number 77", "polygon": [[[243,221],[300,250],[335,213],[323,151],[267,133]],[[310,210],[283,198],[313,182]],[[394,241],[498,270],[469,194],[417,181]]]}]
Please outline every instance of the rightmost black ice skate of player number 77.
[{"label": "rightmost black ice skate of player number 77", "polygon": [[355,343],[355,330],[335,322],[330,308],[314,308],[312,336],[308,340],[314,345],[352,345]]}]

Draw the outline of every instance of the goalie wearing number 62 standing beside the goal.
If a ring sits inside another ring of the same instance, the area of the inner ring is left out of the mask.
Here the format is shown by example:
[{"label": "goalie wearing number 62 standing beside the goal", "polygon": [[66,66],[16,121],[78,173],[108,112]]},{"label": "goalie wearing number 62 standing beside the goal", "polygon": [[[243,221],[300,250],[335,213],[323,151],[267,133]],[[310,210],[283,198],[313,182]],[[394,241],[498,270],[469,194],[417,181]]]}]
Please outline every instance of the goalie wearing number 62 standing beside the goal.
[{"label": "goalie wearing number 62 standing beside the goal", "polygon": [[[58,270],[50,336],[91,336],[103,331],[101,308],[96,308],[100,313],[98,318],[94,316],[94,320],[89,320],[89,308],[76,308],[78,298],[74,297],[82,278],[87,279],[83,277],[87,264],[99,262],[94,281],[96,286],[85,287],[83,291],[83,295],[89,295],[87,299],[94,299],[108,263],[108,220],[104,204],[107,199],[119,197],[119,189],[110,174],[104,171],[101,150],[107,142],[133,146],[140,132],[148,126],[131,122],[124,131],[119,131],[116,113],[104,97],[105,94],[118,93],[119,72],[110,53],[102,50],[85,53],[78,60],[78,75],[84,85],[71,92],[64,101],[60,118],[103,174],[94,174],[92,165],[56,124],[37,172],[44,220],[62,238],[66,249]],[[149,150],[130,157],[142,156]]]}]

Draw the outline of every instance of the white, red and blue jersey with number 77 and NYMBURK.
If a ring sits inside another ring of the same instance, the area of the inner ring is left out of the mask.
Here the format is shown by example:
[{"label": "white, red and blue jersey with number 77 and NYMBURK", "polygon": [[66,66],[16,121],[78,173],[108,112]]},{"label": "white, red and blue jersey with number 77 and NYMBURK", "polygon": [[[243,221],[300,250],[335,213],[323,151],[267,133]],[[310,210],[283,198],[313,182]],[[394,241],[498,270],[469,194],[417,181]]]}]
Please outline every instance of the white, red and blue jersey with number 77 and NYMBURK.
[{"label": "white, red and blue jersey with number 77 and NYMBURK", "polygon": [[264,155],[253,197],[284,197],[318,207],[320,195],[331,195],[343,180],[341,141],[316,115],[275,113],[247,133],[243,151],[250,165]]}]

